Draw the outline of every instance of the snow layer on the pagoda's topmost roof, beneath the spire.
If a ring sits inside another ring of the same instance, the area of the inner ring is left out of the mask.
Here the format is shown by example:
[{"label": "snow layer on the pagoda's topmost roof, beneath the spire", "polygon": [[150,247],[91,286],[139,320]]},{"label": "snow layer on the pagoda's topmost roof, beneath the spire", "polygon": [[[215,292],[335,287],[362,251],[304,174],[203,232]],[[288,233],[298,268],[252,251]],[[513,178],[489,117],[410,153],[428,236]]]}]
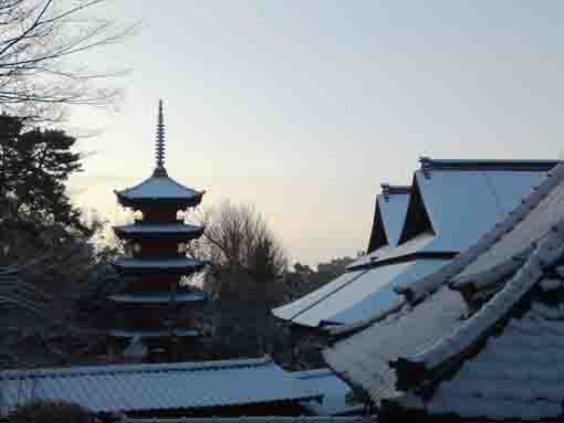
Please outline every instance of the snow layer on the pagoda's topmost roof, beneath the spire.
[{"label": "snow layer on the pagoda's topmost roof, beneath the spire", "polygon": [[143,182],[122,191],[115,191],[119,200],[194,200],[201,198],[203,191],[185,187],[167,176],[152,176]]}]

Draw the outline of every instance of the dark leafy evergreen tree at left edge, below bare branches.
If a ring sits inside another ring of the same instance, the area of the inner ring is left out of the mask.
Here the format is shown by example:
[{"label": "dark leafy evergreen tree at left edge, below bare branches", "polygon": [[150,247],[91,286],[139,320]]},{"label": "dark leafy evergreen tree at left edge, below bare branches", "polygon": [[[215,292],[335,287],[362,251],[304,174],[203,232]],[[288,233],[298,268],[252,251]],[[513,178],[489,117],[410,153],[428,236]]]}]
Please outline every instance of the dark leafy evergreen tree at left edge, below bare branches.
[{"label": "dark leafy evergreen tree at left edge, below bare branches", "polygon": [[80,154],[72,151],[75,141],[62,130],[27,130],[22,119],[0,115],[0,242],[4,247],[13,243],[10,233],[14,232],[35,247],[92,235],[65,190],[69,177],[82,169]]}]

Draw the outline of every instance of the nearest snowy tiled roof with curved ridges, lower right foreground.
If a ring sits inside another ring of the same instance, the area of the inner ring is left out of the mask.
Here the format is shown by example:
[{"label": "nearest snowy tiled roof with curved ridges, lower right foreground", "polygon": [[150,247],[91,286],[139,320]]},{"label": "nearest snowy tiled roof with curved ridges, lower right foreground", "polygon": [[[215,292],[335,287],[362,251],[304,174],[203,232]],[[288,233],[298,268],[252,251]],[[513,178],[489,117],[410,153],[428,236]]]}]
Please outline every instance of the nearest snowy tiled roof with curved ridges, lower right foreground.
[{"label": "nearest snowy tiled roof with curved ridges, lower right foreground", "polygon": [[564,165],[457,258],[399,289],[401,311],[325,350],[326,360],[385,410],[560,417],[562,204]]}]

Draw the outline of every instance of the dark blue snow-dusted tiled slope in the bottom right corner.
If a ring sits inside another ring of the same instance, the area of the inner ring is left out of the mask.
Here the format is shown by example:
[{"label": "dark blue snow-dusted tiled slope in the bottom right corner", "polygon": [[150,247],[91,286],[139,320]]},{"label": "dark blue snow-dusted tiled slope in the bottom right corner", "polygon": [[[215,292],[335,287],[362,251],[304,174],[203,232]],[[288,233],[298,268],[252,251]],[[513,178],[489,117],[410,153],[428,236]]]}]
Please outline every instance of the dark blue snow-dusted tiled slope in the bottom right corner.
[{"label": "dark blue snow-dusted tiled slope in the bottom right corner", "polygon": [[[533,302],[481,352],[441,382],[428,402],[396,399],[429,414],[494,420],[542,420],[562,415],[564,314],[557,305]],[[410,394],[412,395],[412,394]]]}]

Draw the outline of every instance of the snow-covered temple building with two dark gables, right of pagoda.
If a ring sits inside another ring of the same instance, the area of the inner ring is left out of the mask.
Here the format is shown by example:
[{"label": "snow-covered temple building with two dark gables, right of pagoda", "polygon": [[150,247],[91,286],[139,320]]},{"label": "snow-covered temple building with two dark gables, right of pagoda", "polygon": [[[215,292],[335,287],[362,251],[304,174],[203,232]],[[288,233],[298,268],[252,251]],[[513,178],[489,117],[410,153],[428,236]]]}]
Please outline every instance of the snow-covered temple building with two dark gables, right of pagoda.
[{"label": "snow-covered temple building with two dark gables, right of pagoda", "polygon": [[383,184],[367,254],[272,313],[300,334],[336,335],[399,307],[395,287],[448,264],[521,202],[555,160],[420,158],[410,186]]}]

